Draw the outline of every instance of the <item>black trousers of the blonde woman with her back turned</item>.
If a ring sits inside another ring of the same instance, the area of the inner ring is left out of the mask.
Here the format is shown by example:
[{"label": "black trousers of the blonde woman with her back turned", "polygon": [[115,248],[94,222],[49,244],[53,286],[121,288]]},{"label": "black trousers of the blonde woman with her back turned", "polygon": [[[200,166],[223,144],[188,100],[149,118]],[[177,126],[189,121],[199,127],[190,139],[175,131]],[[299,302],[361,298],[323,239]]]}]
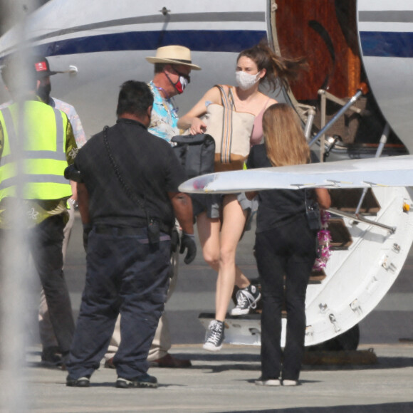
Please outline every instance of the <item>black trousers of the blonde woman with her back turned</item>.
[{"label": "black trousers of the blonde woman with her back turned", "polygon": [[[305,214],[256,234],[261,276],[261,373],[263,380],[298,380],[304,352],[305,293],[316,256],[317,231]],[[285,282],[284,282],[285,276]],[[281,311],[287,310],[286,346],[281,349]]]}]

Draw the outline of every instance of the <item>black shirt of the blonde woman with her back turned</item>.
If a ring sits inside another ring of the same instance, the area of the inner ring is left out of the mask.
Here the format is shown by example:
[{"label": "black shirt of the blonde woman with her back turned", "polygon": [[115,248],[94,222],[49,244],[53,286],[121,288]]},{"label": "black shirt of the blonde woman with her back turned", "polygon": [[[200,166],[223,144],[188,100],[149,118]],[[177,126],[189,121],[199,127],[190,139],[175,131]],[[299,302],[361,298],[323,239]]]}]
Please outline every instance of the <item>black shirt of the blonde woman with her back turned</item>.
[{"label": "black shirt of the blonde woman with her back turned", "polygon": [[[248,169],[272,167],[265,145],[251,147]],[[258,192],[256,232],[263,232],[287,224],[305,214],[304,189],[268,189]]]}]

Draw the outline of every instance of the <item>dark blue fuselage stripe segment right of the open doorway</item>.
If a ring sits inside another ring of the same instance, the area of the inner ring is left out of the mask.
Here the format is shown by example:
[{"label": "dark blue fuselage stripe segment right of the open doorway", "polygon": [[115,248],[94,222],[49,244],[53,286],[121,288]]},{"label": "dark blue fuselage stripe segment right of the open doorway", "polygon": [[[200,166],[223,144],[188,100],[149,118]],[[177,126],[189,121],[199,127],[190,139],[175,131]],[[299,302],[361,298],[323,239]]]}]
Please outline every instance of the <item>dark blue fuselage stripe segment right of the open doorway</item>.
[{"label": "dark blue fuselage stripe segment right of the open doorway", "polygon": [[413,33],[393,31],[360,31],[363,56],[412,58]]}]

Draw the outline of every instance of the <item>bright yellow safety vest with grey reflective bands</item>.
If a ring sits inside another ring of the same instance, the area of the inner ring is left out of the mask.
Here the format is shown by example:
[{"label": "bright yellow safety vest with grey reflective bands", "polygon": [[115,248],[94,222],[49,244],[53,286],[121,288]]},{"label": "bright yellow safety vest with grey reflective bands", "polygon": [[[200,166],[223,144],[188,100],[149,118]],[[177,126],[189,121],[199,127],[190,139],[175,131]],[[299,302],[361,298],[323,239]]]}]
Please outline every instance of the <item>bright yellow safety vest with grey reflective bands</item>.
[{"label": "bright yellow safety vest with grey reflective bands", "polygon": [[[4,147],[0,158],[0,201],[4,197],[62,199],[72,194],[64,178],[68,117],[35,100],[23,107],[24,129],[18,140],[19,106],[0,111]],[[18,184],[22,184],[19,186]],[[19,188],[19,190],[18,190]]]}]

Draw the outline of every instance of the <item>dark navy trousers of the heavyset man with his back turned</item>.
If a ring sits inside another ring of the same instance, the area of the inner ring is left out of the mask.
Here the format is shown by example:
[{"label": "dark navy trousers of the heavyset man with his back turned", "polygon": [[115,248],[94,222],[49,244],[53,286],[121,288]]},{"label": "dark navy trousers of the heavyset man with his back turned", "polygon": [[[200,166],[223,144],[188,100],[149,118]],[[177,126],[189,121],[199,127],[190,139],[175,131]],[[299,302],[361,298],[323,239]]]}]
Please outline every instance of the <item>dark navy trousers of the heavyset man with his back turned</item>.
[{"label": "dark navy trousers of the heavyset man with his back turned", "polygon": [[132,379],[149,368],[147,355],[167,298],[170,237],[161,232],[153,248],[146,228],[130,235],[119,230],[98,234],[94,227],[88,237],[86,284],[67,365],[73,379],[98,369],[119,313],[117,375]]}]

